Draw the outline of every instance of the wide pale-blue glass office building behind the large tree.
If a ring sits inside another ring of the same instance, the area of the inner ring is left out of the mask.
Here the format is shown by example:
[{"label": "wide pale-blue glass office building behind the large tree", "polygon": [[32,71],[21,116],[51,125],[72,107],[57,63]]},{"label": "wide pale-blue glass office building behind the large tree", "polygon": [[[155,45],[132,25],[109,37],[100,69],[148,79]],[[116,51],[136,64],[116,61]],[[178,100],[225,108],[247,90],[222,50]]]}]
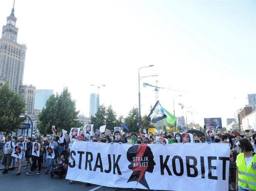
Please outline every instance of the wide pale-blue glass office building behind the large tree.
[{"label": "wide pale-blue glass office building behind the large tree", "polygon": [[35,91],[35,106],[34,109],[42,110],[45,107],[46,101],[53,95],[53,90],[40,89]]}]

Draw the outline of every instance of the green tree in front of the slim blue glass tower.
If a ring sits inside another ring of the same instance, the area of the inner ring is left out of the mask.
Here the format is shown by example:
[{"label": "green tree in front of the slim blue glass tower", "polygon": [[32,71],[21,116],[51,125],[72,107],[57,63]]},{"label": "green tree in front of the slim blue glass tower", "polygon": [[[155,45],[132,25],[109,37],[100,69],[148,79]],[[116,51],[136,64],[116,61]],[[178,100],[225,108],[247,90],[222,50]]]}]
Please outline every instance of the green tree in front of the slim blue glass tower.
[{"label": "green tree in front of the slim blue glass tower", "polygon": [[[104,105],[100,105],[95,117],[91,116],[91,124],[94,125],[94,130],[99,129],[100,126],[106,125],[107,111]],[[108,129],[108,126],[106,126]]]}]

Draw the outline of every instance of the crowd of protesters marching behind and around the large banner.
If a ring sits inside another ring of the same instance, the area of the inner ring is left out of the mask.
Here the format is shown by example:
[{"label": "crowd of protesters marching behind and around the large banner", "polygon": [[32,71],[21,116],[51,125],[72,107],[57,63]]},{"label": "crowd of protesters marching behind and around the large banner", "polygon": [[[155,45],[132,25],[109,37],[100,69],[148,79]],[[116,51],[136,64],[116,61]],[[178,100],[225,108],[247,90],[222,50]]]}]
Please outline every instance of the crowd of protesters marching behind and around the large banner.
[{"label": "crowd of protesters marching behind and around the large banner", "polygon": [[[246,182],[246,166],[248,168],[249,163],[256,161],[256,131],[251,134],[240,134],[238,130],[233,129],[231,132],[226,133],[221,132],[211,132],[208,134],[207,130],[204,130],[204,133],[193,133],[194,143],[208,143],[208,144],[228,144],[230,147],[230,164],[237,163],[237,169],[229,168],[229,190],[234,190],[231,186],[231,182],[236,182],[236,190],[256,190],[256,175],[254,172],[254,181],[252,185]],[[48,174],[52,169],[53,165],[61,161],[65,161],[63,151],[70,151],[70,148],[73,145],[73,142],[70,140],[68,134],[65,133],[63,143],[60,143],[58,140],[61,136],[61,132],[57,134],[53,131],[53,135],[42,134],[39,135],[35,133],[33,137],[27,136],[27,139],[24,139],[23,135],[10,136],[4,135],[4,132],[0,132],[0,154],[2,156],[2,165],[5,166],[2,174],[8,173],[8,171],[15,169],[15,161],[18,164],[18,169],[15,175],[21,174],[22,161],[26,160],[25,169],[30,168],[30,171],[27,172],[27,175],[32,175],[33,171],[37,169],[37,175],[40,174],[41,169],[45,169],[44,173]],[[176,144],[176,143],[185,143],[182,139],[181,132],[160,132],[160,133],[142,133],[139,132],[126,132],[121,133],[120,131],[111,132],[109,135],[104,135],[100,133],[99,137],[93,134],[92,138],[88,134],[84,134],[83,130],[75,137],[76,141],[92,141],[92,142],[102,142],[102,143],[118,143],[118,144]],[[39,148],[39,157],[32,155],[32,143],[40,143]],[[167,143],[168,142],[168,143]],[[21,159],[16,159],[11,157],[12,149],[15,146],[22,147],[23,156]],[[46,148],[51,146],[53,148],[55,157],[54,159],[46,159]],[[243,157],[242,157],[243,155]],[[61,158],[59,158],[61,157]],[[248,159],[247,159],[248,158]],[[250,160],[249,160],[250,159]],[[245,162],[241,162],[245,160]],[[32,162],[31,162],[32,161]],[[68,160],[67,160],[68,161]],[[66,163],[67,163],[66,161]],[[244,166],[246,164],[246,166]],[[255,163],[252,163],[255,165]],[[248,168],[249,169],[249,168]],[[255,167],[256,169],[256,167]],[[254,170],[255,171],[255,170]],[[69,181],[73,183],[74,181]],[[253,185],[255,184],[255,185]],[[86,183],[87,186],[90,186],[90,183]],[[253,189],[252,189],[252,188]],[[118,188],[116,188],[118,190]],[[134,188],[133,190],[137,190]]]}]

